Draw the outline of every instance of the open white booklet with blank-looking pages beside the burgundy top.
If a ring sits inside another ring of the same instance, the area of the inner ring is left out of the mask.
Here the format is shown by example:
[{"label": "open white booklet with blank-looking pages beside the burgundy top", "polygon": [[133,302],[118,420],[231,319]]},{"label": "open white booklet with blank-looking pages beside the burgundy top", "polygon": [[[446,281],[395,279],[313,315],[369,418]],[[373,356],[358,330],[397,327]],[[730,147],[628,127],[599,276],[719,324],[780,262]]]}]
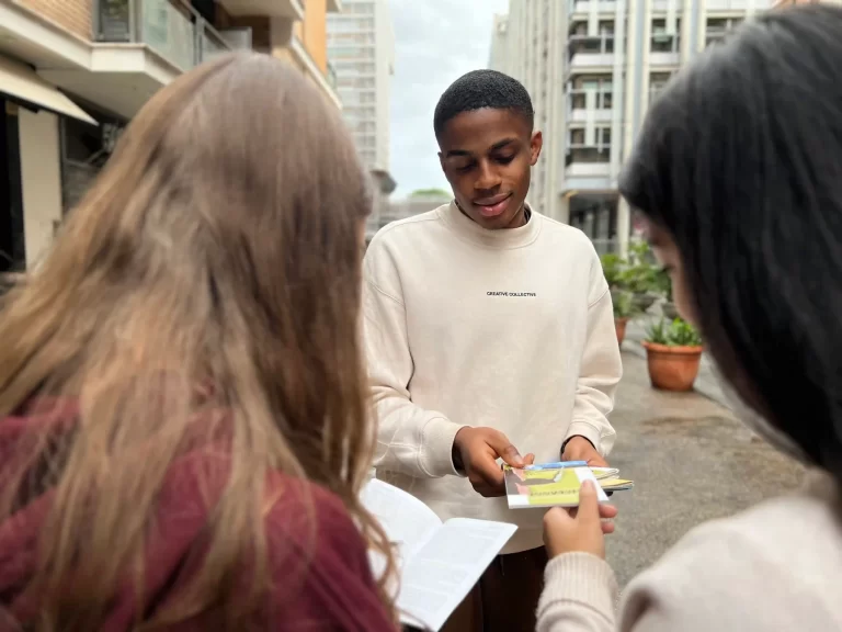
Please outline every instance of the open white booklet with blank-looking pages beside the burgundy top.
[{"label": "open white booklet with blank-looking pages beside the burgundy top", "polygon": [[[376,478],[363,488],[362,501],[395,545],[400,620],[423,630],[444,625],[517,529],[469,518],[442,522],[421,500]],[[385,560],[372,552],[371,563],[379,577]]]}]

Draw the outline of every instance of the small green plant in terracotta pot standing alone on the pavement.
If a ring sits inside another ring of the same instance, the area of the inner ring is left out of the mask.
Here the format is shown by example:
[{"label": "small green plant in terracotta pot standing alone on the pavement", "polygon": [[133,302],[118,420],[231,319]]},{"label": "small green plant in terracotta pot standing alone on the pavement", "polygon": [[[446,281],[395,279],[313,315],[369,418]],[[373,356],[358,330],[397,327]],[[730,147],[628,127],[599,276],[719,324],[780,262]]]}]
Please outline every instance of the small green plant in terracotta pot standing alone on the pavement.
[{"label": "small green plant in terracotta pot standing alone on the pavement", "polygon": [[642,342],[655,388],[692,391],[702,360],[702,337],[686,320],[675,318],[651,324]]}]

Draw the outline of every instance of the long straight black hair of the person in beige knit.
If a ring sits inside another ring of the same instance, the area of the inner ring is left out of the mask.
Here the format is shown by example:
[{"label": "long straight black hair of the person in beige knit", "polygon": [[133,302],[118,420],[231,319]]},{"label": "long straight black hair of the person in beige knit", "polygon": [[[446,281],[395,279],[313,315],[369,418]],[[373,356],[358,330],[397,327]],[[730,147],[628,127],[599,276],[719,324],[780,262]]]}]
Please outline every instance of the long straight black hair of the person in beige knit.
[{"label": "long straight black hair of the person in beige knit", "polygon": [[699,55],[619,189],[675,240],[725,377],[842,482],[842,9],[766,13]]}]

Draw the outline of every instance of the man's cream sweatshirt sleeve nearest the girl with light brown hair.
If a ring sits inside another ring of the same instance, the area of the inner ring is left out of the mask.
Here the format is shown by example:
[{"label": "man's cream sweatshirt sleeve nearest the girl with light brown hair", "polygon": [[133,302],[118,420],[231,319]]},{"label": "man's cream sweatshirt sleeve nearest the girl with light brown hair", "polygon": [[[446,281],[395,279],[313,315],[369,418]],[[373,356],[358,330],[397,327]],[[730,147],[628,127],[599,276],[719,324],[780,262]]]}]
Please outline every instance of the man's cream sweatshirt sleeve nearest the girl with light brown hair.
[{"label": "man's cream sweatshirt sleeve nearest the girl with light brown hair", "polygon": [[453,441],[463,425],[412,403],[407,311],[394,259],[375,238],[363,269],[364,340],[375,415],[374,466],[416,477],[458,475]]}]

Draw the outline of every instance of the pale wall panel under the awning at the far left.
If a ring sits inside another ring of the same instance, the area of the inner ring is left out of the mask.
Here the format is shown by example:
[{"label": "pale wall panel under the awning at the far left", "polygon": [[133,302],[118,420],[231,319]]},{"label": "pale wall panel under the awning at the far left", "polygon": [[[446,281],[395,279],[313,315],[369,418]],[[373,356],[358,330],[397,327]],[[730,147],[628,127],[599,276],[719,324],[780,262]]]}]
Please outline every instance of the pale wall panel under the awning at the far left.
[{"label": "pale wall panel under the awning at the far left", "polygon": [[61,222],[61,165],[58,117],[21,108],[18,114],[21,142],[21,188],[26,268],[44,259]]}]

